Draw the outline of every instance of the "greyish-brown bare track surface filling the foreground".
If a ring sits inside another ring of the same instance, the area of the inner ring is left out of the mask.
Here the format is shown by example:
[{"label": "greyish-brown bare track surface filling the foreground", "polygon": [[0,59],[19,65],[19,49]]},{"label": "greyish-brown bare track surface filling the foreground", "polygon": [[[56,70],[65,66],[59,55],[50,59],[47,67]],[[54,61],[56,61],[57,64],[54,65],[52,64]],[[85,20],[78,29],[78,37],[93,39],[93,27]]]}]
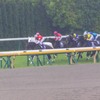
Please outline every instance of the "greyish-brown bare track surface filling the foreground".
[{"label": "greyish-brown bare track surface filling the foreground", "polygon": [[100,64],[0,69],[0,100],[100,100]]}]

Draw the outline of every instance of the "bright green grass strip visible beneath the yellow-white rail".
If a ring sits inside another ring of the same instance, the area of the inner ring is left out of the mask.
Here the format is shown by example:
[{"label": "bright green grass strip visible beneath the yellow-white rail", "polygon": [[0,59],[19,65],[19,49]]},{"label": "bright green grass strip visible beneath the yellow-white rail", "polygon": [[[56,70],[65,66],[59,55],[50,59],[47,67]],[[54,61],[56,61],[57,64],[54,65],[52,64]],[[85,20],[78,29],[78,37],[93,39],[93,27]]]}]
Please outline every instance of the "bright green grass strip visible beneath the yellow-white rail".
[{"label": "bright green grass strip visible beneath the yellow-white rail", "polygon": [[[79,59],[79,61],[77,63],[93,63],[93,58],[90,58],[89,60],[86,59],[86,53],[83,53],[83,58]],[[43,62],[43,55],[39,56],[39,58],[41,59],[41,61]],[[77,59],[77,56],[75,56],[75,61]],[[52,66],[52,65],[65,65],[65,64],[69,64],[68,63],[68,57],[66,54],[58,54],[58,56],[56,57],[55,61],[51,64],[47,64],[47,58],[45,58],[45,65],[47,66]],[[35,67],[37,66],[37,60],[36,58],[34,59],[34,64]],[[4,61],[3,61],[3,66],[4,66]],[[14,66],[15,68],[23,68],[23,67],[33,67],[32,64],[29,64],[29,66],[27,66],[27,56],[16,56],[15,60],[14,60]]]}]

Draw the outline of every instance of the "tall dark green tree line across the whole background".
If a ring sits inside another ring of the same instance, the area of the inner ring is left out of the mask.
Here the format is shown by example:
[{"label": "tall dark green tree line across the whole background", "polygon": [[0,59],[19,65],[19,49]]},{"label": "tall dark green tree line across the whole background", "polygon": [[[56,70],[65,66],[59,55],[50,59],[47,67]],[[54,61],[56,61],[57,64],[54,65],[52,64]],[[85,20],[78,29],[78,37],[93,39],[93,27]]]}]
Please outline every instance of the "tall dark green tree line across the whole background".
[{"label": "tall dark green tree line across the whole background", "polygon": [[[0,0],[0,38],[100,31],[100,0]],[[16,47],[15,47],[16,48]]]}]

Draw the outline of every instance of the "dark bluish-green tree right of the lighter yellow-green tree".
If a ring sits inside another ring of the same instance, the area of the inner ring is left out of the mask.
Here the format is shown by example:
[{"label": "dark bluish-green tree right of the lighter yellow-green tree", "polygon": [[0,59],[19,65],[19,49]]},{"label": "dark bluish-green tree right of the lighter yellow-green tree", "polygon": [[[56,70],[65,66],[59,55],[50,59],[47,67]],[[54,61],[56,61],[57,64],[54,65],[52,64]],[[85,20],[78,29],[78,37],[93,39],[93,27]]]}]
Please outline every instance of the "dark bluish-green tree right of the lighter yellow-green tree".
[{"label": "dark bluish-green tree right of the lighter yellow-green tree", "polygon": [[100,0],[76,0],[82,30],[100,31]]}]

